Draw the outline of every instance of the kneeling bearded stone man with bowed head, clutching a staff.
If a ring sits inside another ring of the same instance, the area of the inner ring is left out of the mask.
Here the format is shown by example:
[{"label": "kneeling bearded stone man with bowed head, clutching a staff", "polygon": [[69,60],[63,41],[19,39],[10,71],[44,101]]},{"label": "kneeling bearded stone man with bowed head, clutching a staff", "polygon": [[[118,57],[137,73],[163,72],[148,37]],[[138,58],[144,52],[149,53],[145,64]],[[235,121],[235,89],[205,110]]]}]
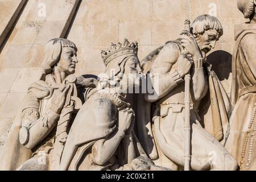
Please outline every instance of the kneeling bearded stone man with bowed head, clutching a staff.
[{"label": "kneeling bearded stone man with bowed head, clutching a staff", "polygon": [[167,42],[152,63],[155,97],[146,94],[145,98],[156,105],[152,127],[158,151],[155,163],[160,166],[184,167],[184,76],[190,72],[191,168],[237,168],[236,160],[219,142],[225,142],[228,131],[229,99],[206,61],[206,54],[222,34],[217,18],[201,15],[192,23],[191,32],[183,31],[180,39]]}]

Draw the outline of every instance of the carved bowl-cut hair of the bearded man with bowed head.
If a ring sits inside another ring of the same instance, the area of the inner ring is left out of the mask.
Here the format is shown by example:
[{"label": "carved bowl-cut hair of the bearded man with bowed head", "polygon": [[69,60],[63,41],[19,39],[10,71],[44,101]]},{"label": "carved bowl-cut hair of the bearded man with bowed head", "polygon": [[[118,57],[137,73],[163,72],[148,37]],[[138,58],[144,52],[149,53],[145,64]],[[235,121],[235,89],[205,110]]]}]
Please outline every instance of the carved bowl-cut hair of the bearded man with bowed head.
[{"label": "carved bowl-cut hair of the bearded man with bowed head", "polygon": [[200,15],[198,16],[191,25],[191,32],[198,36],[199,34],[204,34],[205,31],[209,29],[216,30],[220,36],[223,35],[223,28],[220,21],[210,15]]}]

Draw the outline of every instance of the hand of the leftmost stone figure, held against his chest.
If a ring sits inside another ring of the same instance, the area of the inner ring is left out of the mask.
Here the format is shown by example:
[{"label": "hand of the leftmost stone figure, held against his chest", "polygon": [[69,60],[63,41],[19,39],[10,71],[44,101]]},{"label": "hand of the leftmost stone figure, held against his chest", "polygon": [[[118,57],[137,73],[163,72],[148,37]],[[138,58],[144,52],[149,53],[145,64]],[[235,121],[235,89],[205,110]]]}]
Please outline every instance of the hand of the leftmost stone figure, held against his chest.
[{"label": "hand of the leftmost stone figure, held against his chest", "polygon": [[68,90],[70,88],[70,85],[63,86],[57,90],[55,90],[55,92],[53,93],[52,96],[52,106],[51,106],[51,110],[57,114],[60,114],[61,110],[63,109],[63,106],[65,104],[66,101],[66,96],[68,93]]}]

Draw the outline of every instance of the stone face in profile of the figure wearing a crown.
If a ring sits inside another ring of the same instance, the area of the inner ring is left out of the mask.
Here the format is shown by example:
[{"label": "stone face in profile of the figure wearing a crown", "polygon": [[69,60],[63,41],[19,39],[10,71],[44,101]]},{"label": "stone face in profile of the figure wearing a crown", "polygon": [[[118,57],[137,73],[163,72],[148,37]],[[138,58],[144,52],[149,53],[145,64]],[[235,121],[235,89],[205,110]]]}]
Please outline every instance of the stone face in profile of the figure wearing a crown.
[{"label": "stone face in profile of the figure wearing a crown", "polygon": [[141,64],[137,56],[131,56],[125,63],[125,72],[123,74],[121,85],[122,90],[129,90],[141,85]]}]

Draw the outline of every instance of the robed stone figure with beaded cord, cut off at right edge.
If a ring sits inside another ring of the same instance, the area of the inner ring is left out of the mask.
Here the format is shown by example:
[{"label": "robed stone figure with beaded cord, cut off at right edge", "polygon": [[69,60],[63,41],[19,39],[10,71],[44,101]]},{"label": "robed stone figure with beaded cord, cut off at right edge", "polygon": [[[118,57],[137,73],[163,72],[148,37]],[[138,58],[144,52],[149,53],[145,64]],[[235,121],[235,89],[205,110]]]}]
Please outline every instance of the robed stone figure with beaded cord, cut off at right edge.
[{"label": "robed stone figure with beaded cord, cut off at right edge", "polygon": [[[250,22],[235,27],[232,61],[232,104],[230,134],[225,147],[241,170],[256,170],[256,15],[255,1],[238,0],[238,9]],[[254,160],[254,162],[253,162]]]}]

